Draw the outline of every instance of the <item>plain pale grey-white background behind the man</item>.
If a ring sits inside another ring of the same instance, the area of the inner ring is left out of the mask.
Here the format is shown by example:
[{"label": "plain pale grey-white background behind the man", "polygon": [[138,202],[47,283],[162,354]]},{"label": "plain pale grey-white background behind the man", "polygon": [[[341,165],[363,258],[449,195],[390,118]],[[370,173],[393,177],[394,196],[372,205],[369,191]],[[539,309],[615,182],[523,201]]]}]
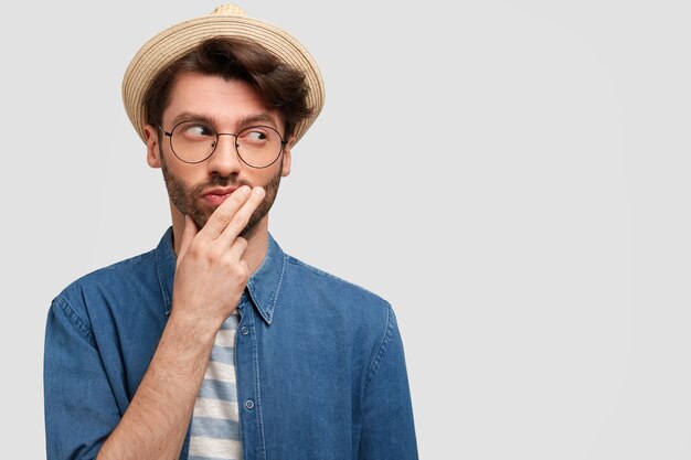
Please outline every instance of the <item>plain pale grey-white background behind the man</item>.
[{"label": "plain pale grey-white background behind the man", "polygon": [[[3,7],[4,458],[44,457],[51,299],[169,225],[123,73],[214,7]],[[690,458],[689,3],[243,7],[327,85],[273,234],[394,304],[421,458]]]}]

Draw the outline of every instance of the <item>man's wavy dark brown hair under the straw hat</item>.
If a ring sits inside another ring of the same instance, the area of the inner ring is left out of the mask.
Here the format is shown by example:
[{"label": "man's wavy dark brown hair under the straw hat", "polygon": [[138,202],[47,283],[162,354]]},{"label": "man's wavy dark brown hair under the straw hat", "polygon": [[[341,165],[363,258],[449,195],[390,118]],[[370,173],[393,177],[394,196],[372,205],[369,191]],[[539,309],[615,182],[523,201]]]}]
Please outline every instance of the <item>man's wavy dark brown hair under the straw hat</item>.
[{"label": "man's wavy dark brown hair under the straw hat", "polygon": [[202,42],[153,78],[143,99],[147,124],[161,122],[176,78],[187,72],[251,84],[269,107],[283,115],[286,139],[295,126],[311,114],[302,72],[285,64],[255,42],[223,38]]}]

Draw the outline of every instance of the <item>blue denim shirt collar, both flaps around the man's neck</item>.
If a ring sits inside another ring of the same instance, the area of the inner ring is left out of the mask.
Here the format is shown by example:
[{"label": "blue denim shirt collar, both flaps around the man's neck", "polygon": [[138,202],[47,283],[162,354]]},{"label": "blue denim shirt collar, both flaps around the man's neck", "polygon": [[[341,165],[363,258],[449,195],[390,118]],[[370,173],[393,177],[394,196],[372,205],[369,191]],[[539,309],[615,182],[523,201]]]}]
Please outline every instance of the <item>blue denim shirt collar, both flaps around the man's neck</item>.
[{"label": "blue denim shirt collar, both flaps around the man's neck", "polygon": [[[166,315],[170,314],[172,306],[172,285],[176,276],[176,261],[173,233],[172,227],[170,227],[156,248],[156,268],[158,270]],[[259,268],[249,277],[245,288],[252,299],[252,303],[267,324],[270,324],[274,319],[274,309],[278,300],[278,292],[280,291],[285,269],[285,254],[272,235],[268,235],[266,256]]]}]

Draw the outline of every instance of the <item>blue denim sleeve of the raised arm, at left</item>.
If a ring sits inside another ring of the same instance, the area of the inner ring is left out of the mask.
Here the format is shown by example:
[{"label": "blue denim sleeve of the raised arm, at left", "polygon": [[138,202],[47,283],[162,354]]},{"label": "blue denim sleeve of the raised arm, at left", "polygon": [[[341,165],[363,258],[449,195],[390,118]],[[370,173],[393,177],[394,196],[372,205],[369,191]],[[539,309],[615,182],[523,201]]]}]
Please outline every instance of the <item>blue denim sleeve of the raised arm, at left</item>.
[{"label": "blue denim sleeve of the raised arm, at left", "polygon": [[120,419],[85,310],[57,297],[49,311],[43,366],[47,460],[94,459]]}]

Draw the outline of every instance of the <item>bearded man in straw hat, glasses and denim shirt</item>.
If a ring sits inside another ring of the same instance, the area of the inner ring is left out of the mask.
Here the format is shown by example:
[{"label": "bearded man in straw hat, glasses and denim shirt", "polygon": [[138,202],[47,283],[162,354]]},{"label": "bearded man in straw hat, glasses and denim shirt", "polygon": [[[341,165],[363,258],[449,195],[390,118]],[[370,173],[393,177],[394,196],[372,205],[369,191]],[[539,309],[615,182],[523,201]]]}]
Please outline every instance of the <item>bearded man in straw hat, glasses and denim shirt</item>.
[{"label": "bearded man in straw hat, glasses and denim shirt", "polygon": [[53,301],[49,459],[417,458],[391,307],[268,234],[322,88],[301,44],[234,6],[137,53],[125,106],[172,227]]}]

